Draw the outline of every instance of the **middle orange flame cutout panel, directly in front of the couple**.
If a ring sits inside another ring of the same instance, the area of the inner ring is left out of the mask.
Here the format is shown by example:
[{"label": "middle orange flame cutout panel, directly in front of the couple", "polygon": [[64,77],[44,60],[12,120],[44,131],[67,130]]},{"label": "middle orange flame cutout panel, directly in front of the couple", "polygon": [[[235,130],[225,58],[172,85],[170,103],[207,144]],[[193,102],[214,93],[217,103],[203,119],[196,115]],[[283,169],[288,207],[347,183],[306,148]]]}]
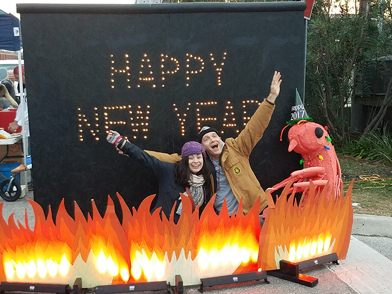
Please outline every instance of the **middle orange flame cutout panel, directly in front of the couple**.
[{"label": "middle orange flame cutout panel, directly in front of the couple", "polygon": [[221,214],[214,211],[215,196],[206,205],[200,219],[198,208],[192,213],[188,197],[181,195],[182,213],[173,222],[174,208],[168,220],[149,208],[154,196],[133,208],[131,215],[123,198],[123,230],[127,236],[132,276],[138,281],[170,280],[181,272],[184,283],[197,284],[200,277],[256,270],[260,221],[258,200],[244,216],[242,201],[237,215],[229,216],[226,203]]}]

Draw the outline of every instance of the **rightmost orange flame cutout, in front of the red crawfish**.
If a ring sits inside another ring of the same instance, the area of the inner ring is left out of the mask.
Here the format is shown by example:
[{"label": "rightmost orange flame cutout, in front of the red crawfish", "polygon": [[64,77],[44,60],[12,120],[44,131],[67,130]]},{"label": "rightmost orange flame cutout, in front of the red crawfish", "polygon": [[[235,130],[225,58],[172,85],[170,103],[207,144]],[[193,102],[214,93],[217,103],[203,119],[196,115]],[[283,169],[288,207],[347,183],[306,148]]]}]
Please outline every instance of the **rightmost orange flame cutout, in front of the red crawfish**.
[{"label": "rightmost orange flame cutout, in front of the red crawfish", "polygon": [[[259,266],[276,270],[282,259],[299,262],[334,252],[344,259],[353,222],[353,182],[344,198],[342,185],[342,196],[336,200],[327,196],[328,185],[320,191],[310,182],[309,196],[299,205],[293,205],[294,194],[287,201],[291,185],[285,187],[275,205],[270,205],[260,234]],[[267,195],[271,197],[268,191]]]}]

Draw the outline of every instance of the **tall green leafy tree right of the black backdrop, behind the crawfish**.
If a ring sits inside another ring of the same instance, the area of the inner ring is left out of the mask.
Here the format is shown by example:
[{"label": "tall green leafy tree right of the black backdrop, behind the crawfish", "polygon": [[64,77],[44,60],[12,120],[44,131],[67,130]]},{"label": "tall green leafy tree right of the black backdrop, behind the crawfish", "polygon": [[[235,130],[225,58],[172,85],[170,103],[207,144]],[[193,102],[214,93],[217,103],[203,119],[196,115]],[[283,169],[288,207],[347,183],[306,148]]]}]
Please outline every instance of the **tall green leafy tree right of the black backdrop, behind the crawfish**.
[{"label": "tall green leafy tree right of the black backdrop, behind the crawfish", "polygon": [[[317,0],[308,25],[306,105],[337,141],[350,131],[347,102],[354,95],[358,74],[375,57],[391,54],[391,0],[361,4],[359,11],[349,14],[347,0]],[[332,14],[332,8],[340,13]],[[385,107],[391,101],[391,85]],[[385,107],[368,129],[377,127]]]}]

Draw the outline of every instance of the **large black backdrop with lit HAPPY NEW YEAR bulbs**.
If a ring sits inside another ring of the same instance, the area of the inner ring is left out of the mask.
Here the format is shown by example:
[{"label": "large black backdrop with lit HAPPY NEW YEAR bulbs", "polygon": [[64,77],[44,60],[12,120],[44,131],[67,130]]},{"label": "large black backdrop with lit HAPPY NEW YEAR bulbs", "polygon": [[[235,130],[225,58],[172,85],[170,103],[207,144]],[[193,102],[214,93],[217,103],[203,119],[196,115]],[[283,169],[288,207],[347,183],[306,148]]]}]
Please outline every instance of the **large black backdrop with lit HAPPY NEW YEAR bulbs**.
[{"label": "large black backdrop with lit HAPPY NEW YEAR bulbs", "polygon": [[290,120],[295,88],[303,93],[305,7],[18,4],[35,201],[47,213],[65,198],[73,215],[74,200],[87,213],[94,198],[103,214],[108,195],[119,208],[119,192],[137,207],[156,193],[156,181],[116,153],[106,130],[168,153],[180,152],[205,124],[223,131],[222,139],[236,136],[256,100],[269,94],[274,70],[282,73],[281,93],[251,166],[264,188],[301,168],[279,135]]}]

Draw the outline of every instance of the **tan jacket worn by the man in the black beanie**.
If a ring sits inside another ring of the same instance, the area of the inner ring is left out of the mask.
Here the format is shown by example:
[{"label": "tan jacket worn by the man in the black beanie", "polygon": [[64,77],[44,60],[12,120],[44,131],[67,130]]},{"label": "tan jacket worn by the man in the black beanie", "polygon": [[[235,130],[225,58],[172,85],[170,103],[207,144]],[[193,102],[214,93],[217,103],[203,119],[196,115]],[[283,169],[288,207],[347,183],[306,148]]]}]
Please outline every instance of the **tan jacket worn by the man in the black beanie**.
[{"label": "tan jacket worn by the man in the black beanie", "polygon": [[[267,196],[250,168],[249,155],[263,136],[274,109],[275,105],[264,99],[238,137],[226,139],[221,154],[221,167],[238,202],[243,198],[245,214],[249,212],[259,196],[261,196],[259,212],[268,205]],[[181,159],[177,153],[169,155],[155,151],[147,152],[162,161],[174,163]]]}]

